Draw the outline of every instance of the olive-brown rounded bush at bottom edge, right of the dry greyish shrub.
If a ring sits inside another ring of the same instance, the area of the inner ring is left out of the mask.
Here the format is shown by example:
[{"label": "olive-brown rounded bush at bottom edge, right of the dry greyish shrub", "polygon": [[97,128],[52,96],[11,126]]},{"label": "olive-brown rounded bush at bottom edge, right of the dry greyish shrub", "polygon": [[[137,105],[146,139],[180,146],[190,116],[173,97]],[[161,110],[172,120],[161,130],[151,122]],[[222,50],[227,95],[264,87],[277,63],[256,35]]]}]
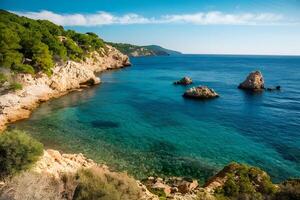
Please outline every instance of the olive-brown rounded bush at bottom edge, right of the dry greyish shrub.
[{"label": "olive-brown rounded bush at bottom edge, right of the dry greyish shrub", "polygon": [[99,167],[80,170],[74,200],[141,199],[141,189],[127,174],[113,173]]}]

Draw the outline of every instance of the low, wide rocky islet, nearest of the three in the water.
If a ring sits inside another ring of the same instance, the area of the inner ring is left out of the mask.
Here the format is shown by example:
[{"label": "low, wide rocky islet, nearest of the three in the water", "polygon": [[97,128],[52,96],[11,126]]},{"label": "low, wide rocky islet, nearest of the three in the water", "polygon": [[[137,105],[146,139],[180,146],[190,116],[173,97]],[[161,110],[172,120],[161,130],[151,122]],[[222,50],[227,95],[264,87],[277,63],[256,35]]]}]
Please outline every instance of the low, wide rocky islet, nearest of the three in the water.
[{"label": "low, wide rocky islet, nearest of the three in the water", "polygon": [[219,97],[219,95],[211,88],[207,86],[198,86],[188,89],[183,97],[192,99],[212,99]]}]

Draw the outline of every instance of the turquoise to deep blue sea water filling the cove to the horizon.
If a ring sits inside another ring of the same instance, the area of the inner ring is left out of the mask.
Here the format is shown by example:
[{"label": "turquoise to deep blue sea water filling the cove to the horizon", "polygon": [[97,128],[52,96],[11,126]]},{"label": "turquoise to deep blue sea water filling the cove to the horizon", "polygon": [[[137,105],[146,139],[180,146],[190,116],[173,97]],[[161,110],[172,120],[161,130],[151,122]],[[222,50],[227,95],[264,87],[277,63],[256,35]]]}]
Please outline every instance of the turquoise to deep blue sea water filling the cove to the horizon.
[{"label": "turquoise to deep blue sea water filling the cove to the horizon", "polygon": [[[100,74],[99,86],[40,106],[12,127],[47,147],[83,152],[117,170],[205,179],[239,161],[274,181],[300,177],[300,57],[132,58],[133,66]],[[248,93],[238,83],[255,69],[280,92]],[[220,98],[182,98],[191,76]]]}]

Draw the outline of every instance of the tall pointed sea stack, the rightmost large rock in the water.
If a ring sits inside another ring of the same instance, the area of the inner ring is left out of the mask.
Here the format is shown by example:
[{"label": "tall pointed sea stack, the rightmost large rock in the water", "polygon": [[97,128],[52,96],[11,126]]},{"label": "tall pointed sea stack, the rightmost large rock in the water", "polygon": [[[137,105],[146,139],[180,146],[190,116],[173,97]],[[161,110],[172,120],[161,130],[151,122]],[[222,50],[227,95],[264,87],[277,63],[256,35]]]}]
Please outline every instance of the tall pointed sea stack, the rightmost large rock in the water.
[{"label": "tall pointed sea stack, the rightmost large rock in the water", "polygon": [[261,91],[265,88],[264,78],[260,71],[251,72],[246,80],[238,86],[239,89]]}]

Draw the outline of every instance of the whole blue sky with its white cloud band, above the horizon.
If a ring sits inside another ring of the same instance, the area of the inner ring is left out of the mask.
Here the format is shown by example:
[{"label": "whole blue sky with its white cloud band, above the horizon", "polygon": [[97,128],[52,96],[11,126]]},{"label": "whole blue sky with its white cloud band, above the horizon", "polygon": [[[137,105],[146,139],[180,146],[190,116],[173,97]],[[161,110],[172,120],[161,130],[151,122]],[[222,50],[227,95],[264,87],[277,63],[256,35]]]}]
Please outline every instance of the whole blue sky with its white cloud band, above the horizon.
[{"label": "whole blue sky with its white cloud band, above the horizon", "polygon": [[300,55],[300,0],[0,0],[111,42],[192,54]]}]

